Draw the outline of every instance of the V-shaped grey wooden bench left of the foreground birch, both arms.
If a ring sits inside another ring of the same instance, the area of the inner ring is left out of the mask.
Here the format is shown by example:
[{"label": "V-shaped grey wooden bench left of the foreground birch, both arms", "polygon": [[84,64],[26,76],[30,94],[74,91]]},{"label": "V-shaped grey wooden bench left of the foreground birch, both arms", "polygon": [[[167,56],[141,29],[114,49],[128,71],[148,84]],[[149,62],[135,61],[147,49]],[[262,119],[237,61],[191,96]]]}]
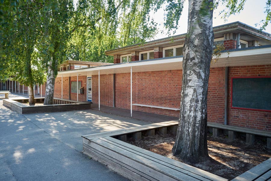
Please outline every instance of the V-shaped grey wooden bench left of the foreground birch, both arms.
[{"label": "V-shaped grey wooden bench left of the foreground birch, both arms", "polygon": [[220,176],[124,142],[129,134],[140,139],[142,132],[150,135],[156,131],[162,134],[169,130],[174,132],[177,124],[178,121],[168,121],[85,135],[82,136],[83,150],[85,154],[132,180],[226,181]]}]

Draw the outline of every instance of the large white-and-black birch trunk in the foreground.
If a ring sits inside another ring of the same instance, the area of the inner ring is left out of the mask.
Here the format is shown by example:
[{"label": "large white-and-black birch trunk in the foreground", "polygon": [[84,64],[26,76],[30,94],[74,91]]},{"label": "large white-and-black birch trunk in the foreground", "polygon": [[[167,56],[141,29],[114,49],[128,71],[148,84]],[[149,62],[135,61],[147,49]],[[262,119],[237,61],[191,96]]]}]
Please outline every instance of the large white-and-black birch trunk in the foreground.
[{"label": "large white-and-black birch trunk in the foreground", "polygon": [[213,0],[189,0],[183,49],[182,97],[172,153],[197,163],[207,149],[207,90],[213,47]]}]

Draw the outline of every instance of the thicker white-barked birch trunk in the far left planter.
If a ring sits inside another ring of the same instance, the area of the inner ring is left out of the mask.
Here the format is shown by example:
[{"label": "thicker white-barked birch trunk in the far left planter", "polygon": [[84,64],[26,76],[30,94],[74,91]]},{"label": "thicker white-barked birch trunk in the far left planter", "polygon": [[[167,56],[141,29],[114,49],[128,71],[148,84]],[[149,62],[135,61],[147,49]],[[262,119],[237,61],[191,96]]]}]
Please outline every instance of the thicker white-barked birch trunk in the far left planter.
[{"label": "thicker white-barked birch trunk in the far left planter", "polygon": [[57,75],[57,71],[55,71],[54,68],[55,65],[56,62],[53,62],[53,58],[51,58],[47,71],[45,99],[43,105],[54,104],[55,77]]}]

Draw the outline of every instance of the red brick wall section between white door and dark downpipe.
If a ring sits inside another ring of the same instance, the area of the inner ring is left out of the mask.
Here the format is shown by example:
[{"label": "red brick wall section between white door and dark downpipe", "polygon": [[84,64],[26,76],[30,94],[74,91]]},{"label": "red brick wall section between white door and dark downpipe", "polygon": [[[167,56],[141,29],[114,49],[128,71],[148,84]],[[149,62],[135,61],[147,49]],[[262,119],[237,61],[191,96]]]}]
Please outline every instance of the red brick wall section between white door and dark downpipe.
[{"label": "red brick wall section between white door and dark downpipe", "polygon": [[[99,103],[98,75],[92,76],[92,102]],[[113,74],[100,75],[100,103],[113,106]]]}]

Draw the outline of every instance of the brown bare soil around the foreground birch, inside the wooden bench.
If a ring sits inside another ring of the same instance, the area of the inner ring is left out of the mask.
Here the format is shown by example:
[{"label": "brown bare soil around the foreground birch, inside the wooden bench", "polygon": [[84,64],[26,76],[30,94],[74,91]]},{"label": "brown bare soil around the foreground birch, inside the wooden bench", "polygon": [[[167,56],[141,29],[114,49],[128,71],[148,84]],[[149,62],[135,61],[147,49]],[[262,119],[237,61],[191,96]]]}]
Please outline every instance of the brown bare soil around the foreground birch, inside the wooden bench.
[{"label": "brown bare soil around the foreground birch, inside the wooden bench", "polygon": [[140,148],[192,165],[226,179],[233,179],[271,157],[271,150],[263,144],[248,145],[244,141],[229,141],[225,135],[212,138],[208,135],[210,159],[198,164],[184,162],[171,154],[176,135],[144,135],[141,140],[129,138],[128,142]]}]

